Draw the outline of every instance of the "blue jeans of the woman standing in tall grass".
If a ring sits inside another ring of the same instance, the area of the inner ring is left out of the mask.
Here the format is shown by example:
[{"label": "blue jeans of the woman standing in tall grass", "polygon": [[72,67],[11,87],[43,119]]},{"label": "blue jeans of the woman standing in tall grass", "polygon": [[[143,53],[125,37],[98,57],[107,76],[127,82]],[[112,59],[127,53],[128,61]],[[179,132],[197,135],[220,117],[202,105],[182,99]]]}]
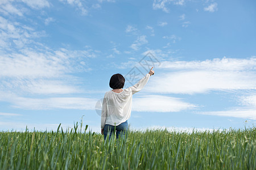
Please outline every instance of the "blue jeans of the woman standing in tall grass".
[{"label": "blue jeans of the woman standing in tall grass", "polygon": [[125,121],[125,122],[122,122],[122,124],[118,125],[118,126],[113,126],[113,125],[109,125],[109,124],[105,124],[104,126],[104,131],[103,131],[103,134],[104,134],[104,140],[106,140],[106,137],[109,133],[109,139],[112,135],[112,133],[115,131],[117,131],[117,139],[119,137],[119,135],[123,135],[123,138],[125,138],[125,134],[127,133],[128,131],[128,122]]}]

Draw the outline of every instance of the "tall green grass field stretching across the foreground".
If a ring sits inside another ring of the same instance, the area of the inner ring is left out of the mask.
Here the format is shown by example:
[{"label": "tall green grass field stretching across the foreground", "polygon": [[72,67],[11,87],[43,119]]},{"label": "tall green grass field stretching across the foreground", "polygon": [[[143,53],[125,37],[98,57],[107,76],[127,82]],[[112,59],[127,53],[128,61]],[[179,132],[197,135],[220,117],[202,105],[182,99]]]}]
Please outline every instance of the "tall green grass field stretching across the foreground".
[{"label": "tall green grass field stretching across the foreground", "polygon": [[118,142],[78,125],[57,131],[0,132],[0,169],[256,169],[256,128],[131,131]]}]

